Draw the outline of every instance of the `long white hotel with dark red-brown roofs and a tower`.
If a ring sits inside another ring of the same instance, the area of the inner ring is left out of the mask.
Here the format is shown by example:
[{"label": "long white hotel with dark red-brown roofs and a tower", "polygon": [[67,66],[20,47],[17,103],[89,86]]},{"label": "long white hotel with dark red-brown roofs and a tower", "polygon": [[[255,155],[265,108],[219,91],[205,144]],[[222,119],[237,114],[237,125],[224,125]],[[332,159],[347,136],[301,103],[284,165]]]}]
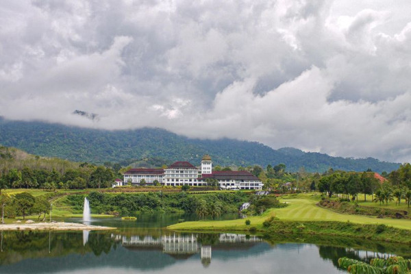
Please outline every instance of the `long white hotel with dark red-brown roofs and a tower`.
[{"label": "long white hotel with dark red-brown roofs and a tower", "polygon": [[207,186],[207,179],[216,179],[222,189],[261,190],[262,182],[248,171],[212,171],[209,155],[204,155],[201,168],[189,162],[175,162],[166,169],[129,169],[124,174],[124,184],[128,182],[139,185],[142,179],[152,185],[157,181],[164,186]]}]

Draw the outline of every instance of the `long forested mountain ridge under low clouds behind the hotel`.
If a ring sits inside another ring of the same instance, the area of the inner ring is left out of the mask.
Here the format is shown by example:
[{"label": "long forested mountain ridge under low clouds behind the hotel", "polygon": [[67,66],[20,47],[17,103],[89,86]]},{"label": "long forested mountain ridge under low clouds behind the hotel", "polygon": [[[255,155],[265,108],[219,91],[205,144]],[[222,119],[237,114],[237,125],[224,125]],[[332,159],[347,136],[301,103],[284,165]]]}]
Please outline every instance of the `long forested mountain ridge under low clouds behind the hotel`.
[{"label": "long forested mountain ridge under low clouds behind the hotel", "polygon": [[303,166],[310,172],[332,168],[345,171],[371,169],[381,173],[399,167],[397,163],[380,162],[374,158],[332,157],[294,148],[275,150],[259,142],[191,139],[158,128],[109,131],[1,118],[0,144],[36,155],[96,164],[143,158],[199,164],[201,157],[208,153],[214,164],[221,166],[259,164],[265,167],[283,163],[288,171],[297,171]]}]

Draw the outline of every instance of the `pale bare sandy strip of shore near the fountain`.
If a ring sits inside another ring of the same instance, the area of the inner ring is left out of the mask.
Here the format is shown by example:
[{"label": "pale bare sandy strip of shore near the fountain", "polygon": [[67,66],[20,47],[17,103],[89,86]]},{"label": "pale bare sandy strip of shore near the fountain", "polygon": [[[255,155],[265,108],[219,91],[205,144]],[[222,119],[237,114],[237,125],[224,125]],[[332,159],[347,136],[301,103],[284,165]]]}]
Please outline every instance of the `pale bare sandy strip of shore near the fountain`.
[{"label": "pale bare sandy strip of shore near the fountain", "polygon": [[8,223],[0,224],[0,230],[110,230],[116,227],[83,225],[82,223]]}]

